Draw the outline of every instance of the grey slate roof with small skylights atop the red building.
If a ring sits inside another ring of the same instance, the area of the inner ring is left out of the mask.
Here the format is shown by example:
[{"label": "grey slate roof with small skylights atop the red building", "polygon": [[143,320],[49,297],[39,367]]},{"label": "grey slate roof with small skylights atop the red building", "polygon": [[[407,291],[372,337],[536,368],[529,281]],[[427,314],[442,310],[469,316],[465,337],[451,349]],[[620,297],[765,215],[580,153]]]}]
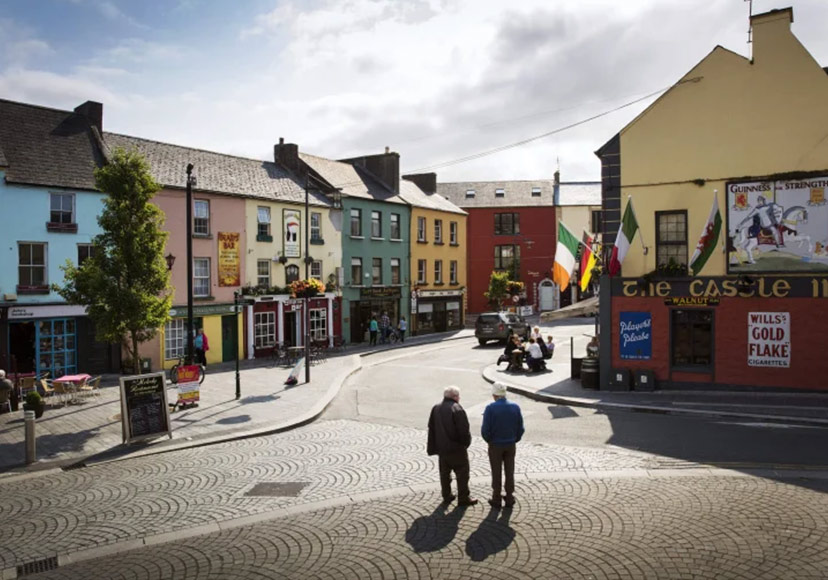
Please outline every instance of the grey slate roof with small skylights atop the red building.
[{"label": "grey slate roof with small skylights atop the red building", "polygon": [[[541,194],[532,197],[532,188],[539,187]],[[495,190],[502,188],[503,197],[495,197]],[[474,197],[466,197],[473,189]],[[463,181],[438,183],[437,193],[463,209],[472,207],[522,207],[555,205],[555,182],[551,179],[535,181]]]}]

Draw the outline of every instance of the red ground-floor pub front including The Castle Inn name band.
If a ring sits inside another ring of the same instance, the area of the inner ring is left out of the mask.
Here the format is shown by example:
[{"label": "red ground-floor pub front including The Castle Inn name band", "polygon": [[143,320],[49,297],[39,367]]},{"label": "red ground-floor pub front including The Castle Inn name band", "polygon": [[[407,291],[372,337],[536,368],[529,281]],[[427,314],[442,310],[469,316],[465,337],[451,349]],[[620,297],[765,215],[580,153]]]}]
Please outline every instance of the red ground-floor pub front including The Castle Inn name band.
[{"label": "red ground-floor pub front including The Castle Inn name band", "polygon": [[650,371],[659,388],[828,391],[826,305],[824,276],[616,279],[608,374],[626,369],[634,384]]}]

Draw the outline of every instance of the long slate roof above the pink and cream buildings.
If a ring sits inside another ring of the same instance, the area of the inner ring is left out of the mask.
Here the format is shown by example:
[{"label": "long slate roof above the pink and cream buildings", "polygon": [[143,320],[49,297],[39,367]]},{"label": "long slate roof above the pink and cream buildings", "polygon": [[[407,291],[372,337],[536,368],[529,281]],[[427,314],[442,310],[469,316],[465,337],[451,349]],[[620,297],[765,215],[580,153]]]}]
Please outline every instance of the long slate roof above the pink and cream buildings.
[{"label": "long slate roof above the pink and cream buildings", "polygon": [[[305,189],[286,170],[271,161],[235,157],[202,149],[159,143],[139,137],[104,132],[109,149],[137,150],[146,157],[152,175],[165,187],[187,186],[187,164],[196,176],[194,191],[255,197],[271,201],[305,203]],[[311,192],[311,205],[329,206],[330,201]]]}]

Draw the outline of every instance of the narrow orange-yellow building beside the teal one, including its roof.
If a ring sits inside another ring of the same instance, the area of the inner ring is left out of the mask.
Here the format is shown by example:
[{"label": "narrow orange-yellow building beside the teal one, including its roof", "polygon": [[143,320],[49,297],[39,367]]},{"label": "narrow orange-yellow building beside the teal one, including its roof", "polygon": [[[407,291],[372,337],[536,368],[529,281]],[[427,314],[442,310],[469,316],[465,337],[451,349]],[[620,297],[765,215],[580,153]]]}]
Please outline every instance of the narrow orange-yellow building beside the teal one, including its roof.
[{"label": "narrow orange-yellow building beside the teal one, including its roof", "polygon": [[436,191],[434,173],[400,182],[400,197],[411,206],[412,335],[465,325],[467,214]]}]

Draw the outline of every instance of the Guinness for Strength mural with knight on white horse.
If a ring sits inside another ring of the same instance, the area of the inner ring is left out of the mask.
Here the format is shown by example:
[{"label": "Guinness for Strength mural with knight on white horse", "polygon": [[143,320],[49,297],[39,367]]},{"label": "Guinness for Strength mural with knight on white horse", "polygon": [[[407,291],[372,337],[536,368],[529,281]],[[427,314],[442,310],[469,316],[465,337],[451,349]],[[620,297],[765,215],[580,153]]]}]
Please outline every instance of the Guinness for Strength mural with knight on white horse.
[{"label": "Guinness for Strength mural with knight on white horse", "polygon": [[727,184],[728,272],[828,272],[828,177]]}]

